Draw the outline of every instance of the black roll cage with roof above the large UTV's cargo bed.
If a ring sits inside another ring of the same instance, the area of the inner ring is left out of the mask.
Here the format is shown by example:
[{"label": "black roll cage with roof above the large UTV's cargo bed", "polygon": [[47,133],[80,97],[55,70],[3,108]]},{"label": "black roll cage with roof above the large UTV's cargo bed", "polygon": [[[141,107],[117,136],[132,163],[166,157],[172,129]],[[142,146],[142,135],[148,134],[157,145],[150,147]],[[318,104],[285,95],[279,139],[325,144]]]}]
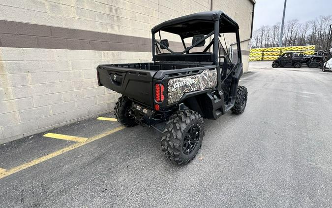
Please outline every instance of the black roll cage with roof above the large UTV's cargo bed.
[{"label": "black roll cage with roof above the large UTV's cargo bed", "polygon": [[[175,52],[169,48],[168,40],[156,40],[155,34],[160,31],[179,35],[184,50],[181,52]],[[151,30],[152,32],[152,57],[153,61],[194,61],[194,62],[212,62],[213,65],[220,64],[220,58],[228,59],[231,61],[230,54],[225,53],[226,56],[221,55],[221,51],[227,52],[227,46],[225,48],[220,42],[220,34],[235,33],[236,45],[238,53],[238,62],[241,63],[241,46],[238,24],[227,16],[222,11],[208,11],[195,13],[179,18],[175,18],[166,22],[163,22]],[[199,37],[201,35],[201,37]],[[205,40],[214,36],[210,43],[205,47],[202,52],[189,53],[189,51],[196,47],[204,45]],[[187,37],[197,37],[197,41],[193,41],[192,45],[186,47],[184,39]],[[215,37],[218,37],[218,41],[214,41]],[[225,41],[226,44],[226,41]],[[213,45],[212,52],[207,52]],[[161,54],[160,49],[166,49],[170,54]],[[218,60],[219,59],[219,60]]]}]

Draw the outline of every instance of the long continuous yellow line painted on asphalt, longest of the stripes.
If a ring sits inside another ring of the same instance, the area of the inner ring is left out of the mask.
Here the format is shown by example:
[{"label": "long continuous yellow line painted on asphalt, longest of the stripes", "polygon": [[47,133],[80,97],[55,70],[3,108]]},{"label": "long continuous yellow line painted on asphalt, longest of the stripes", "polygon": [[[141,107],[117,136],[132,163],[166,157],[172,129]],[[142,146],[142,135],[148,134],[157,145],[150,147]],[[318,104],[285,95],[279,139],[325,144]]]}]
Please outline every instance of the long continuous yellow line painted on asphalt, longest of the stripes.
[{"label": "long continuous yellow line painted on asphalt, longest of the stripes", "polygon": [[70,145],[70,146],[65,147],[65,148],[63,148],[63,149],[60,149],[60,150],[58,150],[58,151],[55,151],[55,152],[53,152],[53,153],[51,153],[51,154],[48,154],[48,155],[46,155],[46,156],[43,156],[43,157],[37,158],[37,159],[32,160],[32,161],[30,161],[30,162],[28,162],[28,163],[25,163],[25,164],[23,164],[23,165],[20,165],[20,166],[17,166],[17,167],[15,167],[15,168],[12,168],[12,169],[10,169],[10,170],[7,170],[7,171],[4,172],[4,173],[0,172],[0,179],[6,177],[6,176],[8,176],[8,175],[11,175],[11,174],[13,174],[13,173],[17,173],[17,172],[19,172],[19,171],[22,171],[22,170],[24,170],[24,169],[27,169],[27,168],[29,168],[29,167],[31,167],[31,166],[37,165],[37,164],[39,164],[39,163],[41,163],[41,162],[44,162],[44,161],[49,160],[49,159],[51,159],[51,158],[54,158],[54,157],[56,157],[56,156],[59,156],[59,155],[65,153],[65,152],[68,152],[68,151],[70,151],[70,150],[76,149],[77,147],[80,147],[80,146],[83,146],[83,145],[85,145],[85,144],[88,144],[88,143],[90,143],[91,141],[95,141],[95,140],[100,139],[100,138],[103,138],[103,137],[105,137],[105,136],[107,136],[107,135],[113,134],[113,133],[115,133],[115,132],[117,132],[117,131],[120,131],[121,129],[124,129],[124,128],[125,128],[125,126],[117,127],[117,128],[115,128],[115,129],[112,129],[112,130],[110,130],[110,131],[104,132],[104,133],[99,134],[99,135],[97,135],[97,136],[91,137],[91,138],[89,138],[89,139],[88,139],[86,142],[84,142],[84,143],[82,143],[82,142],[80,142],[80,143],[75,143],[75,144],[73,144],[73,145]]}]

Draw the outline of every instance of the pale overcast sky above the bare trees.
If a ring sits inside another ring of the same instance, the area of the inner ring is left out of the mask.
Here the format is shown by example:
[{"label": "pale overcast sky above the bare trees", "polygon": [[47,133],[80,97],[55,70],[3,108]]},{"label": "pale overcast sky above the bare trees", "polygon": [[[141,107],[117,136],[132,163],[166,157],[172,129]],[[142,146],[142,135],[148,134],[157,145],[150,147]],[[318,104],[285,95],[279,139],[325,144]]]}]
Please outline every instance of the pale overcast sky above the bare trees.
[{"label": "pale overcast sky above the bare trees", "polygon": [[[254,30],[282,20],[284,0],[256,0]],[[323,15],[332,15],[332,0],[287,0],[285,22],[298,19],[306,22]]]}]

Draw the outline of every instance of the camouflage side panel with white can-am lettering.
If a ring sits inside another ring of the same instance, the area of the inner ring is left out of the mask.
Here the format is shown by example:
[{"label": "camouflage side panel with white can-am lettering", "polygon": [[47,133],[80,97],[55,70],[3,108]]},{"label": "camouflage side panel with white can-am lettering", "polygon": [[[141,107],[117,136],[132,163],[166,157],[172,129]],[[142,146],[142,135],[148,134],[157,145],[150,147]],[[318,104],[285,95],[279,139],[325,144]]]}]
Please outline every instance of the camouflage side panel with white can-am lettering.
[{"label": "camouflage side panel with white can-am lettering", "polygon": [[200,74],[168,80],[167,103],[178,102],[187,92],[214,88],[217,85],[217,69],[206,69]]}]

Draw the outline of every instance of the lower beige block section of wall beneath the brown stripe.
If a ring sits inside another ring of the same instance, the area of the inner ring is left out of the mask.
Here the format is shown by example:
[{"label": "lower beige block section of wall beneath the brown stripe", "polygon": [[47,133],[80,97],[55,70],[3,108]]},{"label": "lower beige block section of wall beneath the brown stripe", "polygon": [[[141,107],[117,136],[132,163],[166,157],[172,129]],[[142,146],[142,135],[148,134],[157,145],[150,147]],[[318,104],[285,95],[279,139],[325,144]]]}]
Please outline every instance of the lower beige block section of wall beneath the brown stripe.
[{"label": "lower beige block section of wall beneath the brown stripe", "polygon": [[112,110],[120,95],[97,86],[95,67],[124,63],[122,56],[150,59],[146,52],[0,48],[0,142]]}]

